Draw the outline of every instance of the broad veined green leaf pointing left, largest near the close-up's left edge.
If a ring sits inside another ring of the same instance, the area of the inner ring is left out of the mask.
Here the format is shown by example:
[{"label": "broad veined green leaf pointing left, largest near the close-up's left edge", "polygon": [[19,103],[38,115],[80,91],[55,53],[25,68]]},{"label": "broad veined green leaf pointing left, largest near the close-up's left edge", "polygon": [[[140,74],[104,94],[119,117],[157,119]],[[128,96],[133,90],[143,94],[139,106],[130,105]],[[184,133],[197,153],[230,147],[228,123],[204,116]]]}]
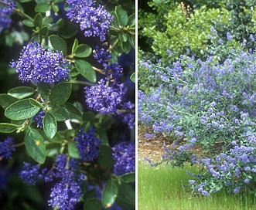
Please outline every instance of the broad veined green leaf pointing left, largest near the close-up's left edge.
[{"label": "broad veined green leaf pointing left, largest near the close-up's left edge", "polygon": [[36,115],[39,110],[39,107],[34,107],[29,103],[29,99],[18,100],[6,108],[5,117],[11,120],[25,120]]}]

